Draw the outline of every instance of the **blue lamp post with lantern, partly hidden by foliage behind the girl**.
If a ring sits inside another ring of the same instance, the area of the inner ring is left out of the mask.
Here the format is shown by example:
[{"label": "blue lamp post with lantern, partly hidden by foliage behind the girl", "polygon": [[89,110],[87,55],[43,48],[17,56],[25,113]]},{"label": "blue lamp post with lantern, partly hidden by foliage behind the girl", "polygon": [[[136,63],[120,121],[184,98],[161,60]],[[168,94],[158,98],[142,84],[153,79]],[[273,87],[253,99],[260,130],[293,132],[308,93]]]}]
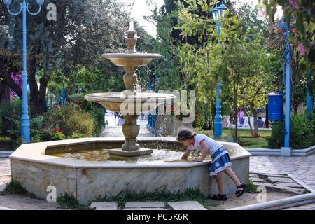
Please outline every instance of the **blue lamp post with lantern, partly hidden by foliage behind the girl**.
[{"label": "blue lamp post with lantern, partly hidden by foliage behind the girl", "polygon": [[[218,43],[221,43],[221,19],[225,18],[225,11],[228,8],[222,2],[221,6],[215,7],[211,11],[214,21],[216,22],[216,29],[218,30]],[[221,116],[221,80],[218,80],[218,89],[216,91],[216,117],[214,119],[214,137],[220,138],[222,136],[222,116]]]}]

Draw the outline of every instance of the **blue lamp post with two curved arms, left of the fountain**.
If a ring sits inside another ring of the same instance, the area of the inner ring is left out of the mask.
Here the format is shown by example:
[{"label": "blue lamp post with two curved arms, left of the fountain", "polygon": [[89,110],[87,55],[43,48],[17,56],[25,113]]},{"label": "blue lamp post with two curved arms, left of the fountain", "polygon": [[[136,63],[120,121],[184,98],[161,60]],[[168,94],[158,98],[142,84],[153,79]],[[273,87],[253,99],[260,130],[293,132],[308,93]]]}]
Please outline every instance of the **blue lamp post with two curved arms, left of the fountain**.
[{"label": "blue lamp post with two curved arms, left of the fountain", "polygon": [[22,122],[21,122],[21,134],[25,139],[26,143],[31,141],[30,130],[29,130],[29,105],[27,99],[27,12],[31,15],[37,15],[41,12],[41,6],[43,6],[44,0],[36,0],[38,3],[39,9],[37,13],[31,13],[29,11],[29,3],[26,0],[23,0],[20,3],[20,10],[18,13],[12,13],[10,11],[10,4],[12,0],[3,0],[3,3],[6,5],[8,12],[11,15],[19,15],[22,12],[23,19],[23,75],[22,75]]}]

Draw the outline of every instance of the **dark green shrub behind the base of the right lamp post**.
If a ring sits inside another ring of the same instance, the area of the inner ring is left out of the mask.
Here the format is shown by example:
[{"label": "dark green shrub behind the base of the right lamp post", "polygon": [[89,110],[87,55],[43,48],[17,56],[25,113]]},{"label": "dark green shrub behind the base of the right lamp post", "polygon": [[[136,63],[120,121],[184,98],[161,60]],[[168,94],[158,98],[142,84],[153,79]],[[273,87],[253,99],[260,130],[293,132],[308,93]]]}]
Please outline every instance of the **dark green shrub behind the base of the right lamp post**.
[{"label": "dark green shrub behind the base of the right lamp post", "polygon": [[[284,122],[272,126],[272,134],[267,138],[269,148],[281,148],[284,144]],[[306,114],[292,116],[290,146],[307,148],[315,145],[315,116],[307,120]]]}]

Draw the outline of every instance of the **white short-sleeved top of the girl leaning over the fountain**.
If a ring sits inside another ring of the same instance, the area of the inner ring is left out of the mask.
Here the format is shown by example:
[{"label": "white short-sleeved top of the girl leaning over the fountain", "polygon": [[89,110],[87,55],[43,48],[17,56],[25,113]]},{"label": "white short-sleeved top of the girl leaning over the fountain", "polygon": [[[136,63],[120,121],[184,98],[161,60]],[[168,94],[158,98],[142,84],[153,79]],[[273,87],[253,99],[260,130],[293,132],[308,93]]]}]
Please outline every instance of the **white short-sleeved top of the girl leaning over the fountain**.
[{"label": "white short-sleeved top of the girl leaning over the fountain", "polygon": [[206,141],[207,145],[209,146],[209,155],[214,155],[214,153],[221,148],[223,145],[219,144],[218,141],[215,141],[214,139],[211,139],[210,137],[207,137],[207,135],[204,134],[196,134],[194,137],[194,144],[188,146],[188,150],[193,151],[202,151],[201,143],[202,141]]}]

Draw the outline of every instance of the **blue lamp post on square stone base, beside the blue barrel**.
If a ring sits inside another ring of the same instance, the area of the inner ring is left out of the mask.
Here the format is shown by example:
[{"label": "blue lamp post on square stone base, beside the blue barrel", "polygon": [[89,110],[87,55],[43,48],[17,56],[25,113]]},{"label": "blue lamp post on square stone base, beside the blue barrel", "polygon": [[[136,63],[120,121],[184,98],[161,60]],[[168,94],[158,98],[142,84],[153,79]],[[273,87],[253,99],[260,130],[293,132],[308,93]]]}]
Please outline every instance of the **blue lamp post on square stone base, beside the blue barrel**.
[{"label": "blue lamp post on square stone base, beside the blue barrel", "polygon": [[286,23],[286,20],[282,18],[282,22],[278,23],[279,27],[286,31],[286,113],[284,116],[285,134],[284,134],[284,146],[281,148],[281,155],[290,156],[290,132],[291,132],[291,47],[288,36],[290,35],[291,25]]}]

